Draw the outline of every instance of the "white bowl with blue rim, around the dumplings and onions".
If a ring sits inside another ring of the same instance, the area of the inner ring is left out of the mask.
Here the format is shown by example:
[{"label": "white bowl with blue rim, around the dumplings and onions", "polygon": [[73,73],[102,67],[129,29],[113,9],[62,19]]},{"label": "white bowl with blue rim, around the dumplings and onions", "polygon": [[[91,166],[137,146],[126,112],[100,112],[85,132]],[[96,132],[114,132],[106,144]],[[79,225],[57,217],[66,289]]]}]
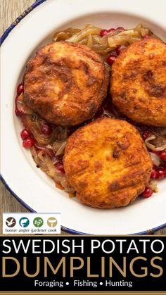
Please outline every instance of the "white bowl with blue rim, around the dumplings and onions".
[{"label": "white bowl with blue rim, around the dumplings and onions", "polygon": [[1,175],[6,186],[30,211],[60,212],[62,229],[72,233],[146,233],[166,226],[165,180],[158,182],[158,194],[138,198],[125,208],[99,210],[84,206],[56,189],[53,181],[36,168],[30,151],[22,147],[23,126],[14,114],[15,88],[25,65],[41,44],[51,41],[56,30],[87,23],[103,28],[131,28],[143,23],[164,39],[165,0],[42,1],[34,4],[13,30],[8,29],[8,37],[8,32],[2,37],[2,41],[6,39],[1,46]]}]

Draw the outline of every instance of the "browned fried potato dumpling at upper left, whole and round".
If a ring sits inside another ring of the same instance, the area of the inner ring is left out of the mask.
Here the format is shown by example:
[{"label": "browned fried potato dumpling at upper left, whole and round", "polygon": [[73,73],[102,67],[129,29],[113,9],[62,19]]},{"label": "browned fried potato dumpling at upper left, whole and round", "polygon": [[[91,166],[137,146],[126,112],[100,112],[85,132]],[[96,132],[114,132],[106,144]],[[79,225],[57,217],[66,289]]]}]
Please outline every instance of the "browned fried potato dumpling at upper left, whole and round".
[{"label": "browned fried potato dumpling at upper left, whole and round", "polygon": [[27,63],[25,103],[56,125],[92,118],[108,89],[103,58],[85,45],[55,42]]}]

